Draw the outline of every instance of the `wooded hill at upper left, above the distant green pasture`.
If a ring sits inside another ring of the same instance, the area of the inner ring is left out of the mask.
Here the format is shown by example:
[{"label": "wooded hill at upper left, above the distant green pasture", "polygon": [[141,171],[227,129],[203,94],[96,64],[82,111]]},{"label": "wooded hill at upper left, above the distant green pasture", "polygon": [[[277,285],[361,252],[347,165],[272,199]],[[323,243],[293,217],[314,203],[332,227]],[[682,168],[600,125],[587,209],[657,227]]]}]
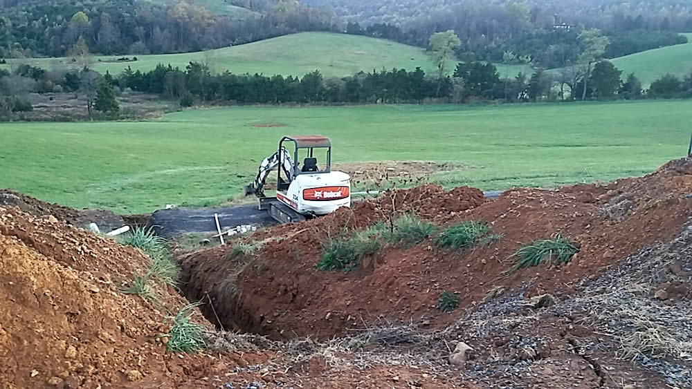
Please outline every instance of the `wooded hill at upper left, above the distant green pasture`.
[{"label": "wooded hill at upper left, above the distant green pasture", "polygon": [[91,53],[137,55],[336,28],[297,0],[0,0],[0,11],[0,58],[62,57],[80,37]]}]

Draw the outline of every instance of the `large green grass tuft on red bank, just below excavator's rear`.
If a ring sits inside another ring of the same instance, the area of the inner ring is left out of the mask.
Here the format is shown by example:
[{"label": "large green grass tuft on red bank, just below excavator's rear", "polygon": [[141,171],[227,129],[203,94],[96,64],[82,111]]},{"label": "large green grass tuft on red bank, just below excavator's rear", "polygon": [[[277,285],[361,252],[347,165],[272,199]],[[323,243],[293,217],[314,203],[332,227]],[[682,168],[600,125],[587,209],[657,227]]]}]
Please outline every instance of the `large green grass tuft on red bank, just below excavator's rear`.
[{"label": "large green grass tuft on red bank, just below excavator's rear", "polygon": [[381,247],[381,227],[375,225],[352,236],[344,233],[330,237],[322,243],[322,259],[317,268],[328,272],[350,272],[361,263],[361,258],[373,254]]}]

